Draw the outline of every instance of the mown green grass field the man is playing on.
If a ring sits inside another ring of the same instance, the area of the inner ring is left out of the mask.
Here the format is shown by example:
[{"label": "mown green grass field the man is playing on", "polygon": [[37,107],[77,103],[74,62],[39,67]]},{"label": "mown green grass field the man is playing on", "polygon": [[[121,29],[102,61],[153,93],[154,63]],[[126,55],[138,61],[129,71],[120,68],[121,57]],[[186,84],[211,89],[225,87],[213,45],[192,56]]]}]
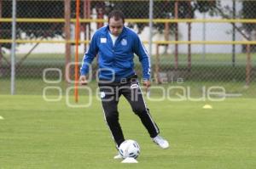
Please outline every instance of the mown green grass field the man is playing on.
[{"label": "mown green grass field the man is playing on", "polygon": [[[86,97],[80,97],[83,104]],[[70,108],[65,98],[0,95],[0,168],[216,168],[256,166],[256,99],[222,102],[148,101],[171,149],[153,144],[129,104],[119,103],[125,138],[142,149],[138,164],[113,160],[116,149],[96,98],[88,108]],[[211,110],[202,109],[211,104]]]}]

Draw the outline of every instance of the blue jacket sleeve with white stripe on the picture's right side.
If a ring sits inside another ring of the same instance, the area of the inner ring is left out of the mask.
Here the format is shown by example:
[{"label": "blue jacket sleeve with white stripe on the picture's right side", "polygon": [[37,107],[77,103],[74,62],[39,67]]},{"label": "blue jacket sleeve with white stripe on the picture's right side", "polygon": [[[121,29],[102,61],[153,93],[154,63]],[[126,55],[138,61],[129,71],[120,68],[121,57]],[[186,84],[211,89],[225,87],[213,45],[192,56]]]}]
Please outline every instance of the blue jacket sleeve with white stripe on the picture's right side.
[{"label": "blue jacket sleeve with white stripe on the picture's right side", "polygon": [[136,36],[134,42],[134,52],[137,54],[142,66],[143,66],[143,79],[149,80],[150,79],[150,58],[148,55],[148,51],[146,50],[145,46],[141,39]]}]

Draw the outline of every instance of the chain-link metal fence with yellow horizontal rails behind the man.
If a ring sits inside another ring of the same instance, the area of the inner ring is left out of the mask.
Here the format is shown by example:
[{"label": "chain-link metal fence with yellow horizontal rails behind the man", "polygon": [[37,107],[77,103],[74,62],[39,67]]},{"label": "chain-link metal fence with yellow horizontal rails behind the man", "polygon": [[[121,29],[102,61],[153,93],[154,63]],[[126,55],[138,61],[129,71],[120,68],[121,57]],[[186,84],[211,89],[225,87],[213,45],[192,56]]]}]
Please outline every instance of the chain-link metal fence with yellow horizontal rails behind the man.
[{"label": "chain-link metal fence with yellow horizontal rails behind the man", "polygon": [[[74,74],[76,1],[17,0],[15,22],[13,2],[0,0],[0,94],[11,91],[14,42],[15,94],[42,94],[45,87],[65,91],[73,85],[67,80]],[[255,97],[256,2],[157,0],[152,1],[153,20],[149,2],[81,0],[79,59],[96,29],[108,24],[108,13],[119,8],[125,25],[137,31],[151,53],[155,86],[182,85],[194,93],[218,86],[227,94]],[[135,63],[141,75],[137,59]],[[95,74],[96,61],[93,70]]]}]

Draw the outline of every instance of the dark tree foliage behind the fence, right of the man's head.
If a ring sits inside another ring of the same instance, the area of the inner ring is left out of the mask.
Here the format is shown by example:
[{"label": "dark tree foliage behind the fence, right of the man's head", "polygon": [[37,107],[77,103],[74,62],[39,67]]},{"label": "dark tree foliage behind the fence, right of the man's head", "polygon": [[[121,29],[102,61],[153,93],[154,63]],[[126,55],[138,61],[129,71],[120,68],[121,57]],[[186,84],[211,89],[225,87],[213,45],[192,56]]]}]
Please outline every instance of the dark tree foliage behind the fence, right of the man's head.
[{"label": "dark tree foliage behind the fence, right of the man's head", "polygon": [[[175,13],[175,2],[172,1],[154,1],[154,18],[158,19],[172,19],[174,18]],[[194,13],[196,10],[200,12],[211,11],[215,8],[216,0],[211,1],[192,1],[193,5],[190,5],[189,1],[177,1],[178,2],[178,18],[194,18]],[[125,13],[126,18],[130,19],[147,19],[148,18],[148,1],[137,1],[137,2],[127,2],[127,1],[110,1],[108,8],[118,8]],[[188,9],[191,8],[192,13],[188,13]],[[110,11],[110,10],[108,10]],[[135,24],[130,24],[130,26],[134,26]],[[148,24],[138,23],[136,24],[138,27],[139,33],[143,31],[143,28]],[[169,24],[171,28],[173,28],[173,24]],[[164,23],[154,24],[154,28],[158,30],[160,33],[163,32],[165,27]],[[171,31],[172,33],[173,31]]]}]

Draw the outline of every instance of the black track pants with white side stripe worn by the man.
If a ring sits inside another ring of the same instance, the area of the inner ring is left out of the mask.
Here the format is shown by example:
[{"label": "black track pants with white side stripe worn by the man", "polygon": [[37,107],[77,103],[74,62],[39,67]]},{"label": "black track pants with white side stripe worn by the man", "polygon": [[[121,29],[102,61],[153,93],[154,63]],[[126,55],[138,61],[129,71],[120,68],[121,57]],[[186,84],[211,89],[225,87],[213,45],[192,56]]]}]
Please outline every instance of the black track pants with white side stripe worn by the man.
[{"label": "black track pants with white side stripe worn by the man", "polygon": [[131,104],[133,112],[138,115],[143,126],[148,130],[150,137],[154,138],[157,136],[159,128],[154,123],[145,105],[143,93],[139,87],[137,78],[125,79],[123,82],[99,83],[99,87],[105,120],[118,146],[125,141],[119,124],[118,103],[121,95]]}]

